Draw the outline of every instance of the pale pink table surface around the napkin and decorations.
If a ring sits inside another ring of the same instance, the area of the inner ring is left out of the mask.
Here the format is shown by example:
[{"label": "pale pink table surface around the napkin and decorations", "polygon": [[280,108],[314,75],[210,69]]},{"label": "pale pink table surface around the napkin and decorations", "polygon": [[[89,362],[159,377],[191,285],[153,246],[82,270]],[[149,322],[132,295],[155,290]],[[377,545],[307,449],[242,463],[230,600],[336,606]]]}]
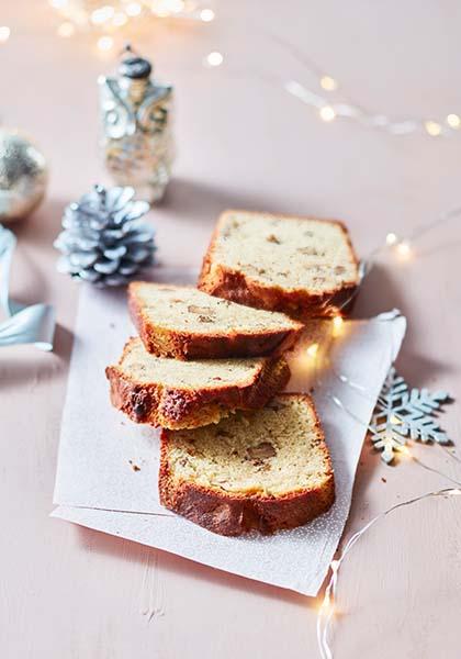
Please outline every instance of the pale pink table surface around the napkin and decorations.
[{"label": "pale pink table surface around the napkin and decorations", "polygon": [[[392,137],[347,121],[322,123],[255,71],[303,80],[278,34],[379,112],[461,111],[461,8],[408,0],[220,2],[209,25],[139,26],[136,45],[177,86],[176,177],[151,213],[159,257],[198,266],[227,206],[338,216],[360,254],[389,231],[408,233],[461,203],[461,134]],[[97,181],[95,78],[114,66],[94,37],[59,40],[45,1],[2,2],[4,125],[33,135],[52,166],[49,193],[18,224],[12,292],[56,305],[55,353],[0,350],[0,638],[8,659],[234,659],[317,657],[318,602],[50,520],[59,423],[78,286],[55,272],[52,241],[64,205]],[[218,49],[226,66],[204,69]],[[306,80],[307,81],[307,80]],[[414,257],[389,255],[356,313],[398,306],[409,328],[398,368],[415,386],[461,393],[459,220],[428,235]],[[88,320],[91,322],[91,319]],[[443,425],[459,440],[459,403]],[[461,476],[437,447],[415,454]],[[443,479],[409,460],[385,467],[363,448],[350,535],[394,502]],[[461,498],[428,501],[376,526],[340,577],[336,657],[459,657]]]}]

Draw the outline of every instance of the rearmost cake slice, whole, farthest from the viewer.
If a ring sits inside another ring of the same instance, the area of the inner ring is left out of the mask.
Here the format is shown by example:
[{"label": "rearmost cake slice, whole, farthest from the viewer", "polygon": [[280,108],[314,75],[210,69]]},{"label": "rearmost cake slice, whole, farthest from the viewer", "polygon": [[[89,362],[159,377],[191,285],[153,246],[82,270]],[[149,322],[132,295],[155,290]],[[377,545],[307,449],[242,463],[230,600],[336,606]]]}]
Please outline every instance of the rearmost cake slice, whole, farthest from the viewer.
[{"label": "rearmost cake slice, whole, farthest from the viewer", "polygon": [[199,278],[212,295],[301,320],[337,313],[358,283],[340,222],[248,211],[221,215]]}]

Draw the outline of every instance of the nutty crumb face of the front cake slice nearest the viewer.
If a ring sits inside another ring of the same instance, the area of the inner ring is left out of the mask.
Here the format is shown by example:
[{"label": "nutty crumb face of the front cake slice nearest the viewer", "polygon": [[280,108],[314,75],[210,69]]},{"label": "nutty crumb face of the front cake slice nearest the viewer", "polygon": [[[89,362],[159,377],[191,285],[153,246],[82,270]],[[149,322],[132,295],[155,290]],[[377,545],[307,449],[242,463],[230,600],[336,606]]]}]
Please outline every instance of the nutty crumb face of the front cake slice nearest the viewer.
[{"label": "nutty crumb face of the front cake slice nearest the viewer", "polygon": [[169,433],[168,465],[176,487],[189,482],[223,494],[280,496],[322,488],[331,478],[315,412],[300,395],[278,396],[217,425]]}]

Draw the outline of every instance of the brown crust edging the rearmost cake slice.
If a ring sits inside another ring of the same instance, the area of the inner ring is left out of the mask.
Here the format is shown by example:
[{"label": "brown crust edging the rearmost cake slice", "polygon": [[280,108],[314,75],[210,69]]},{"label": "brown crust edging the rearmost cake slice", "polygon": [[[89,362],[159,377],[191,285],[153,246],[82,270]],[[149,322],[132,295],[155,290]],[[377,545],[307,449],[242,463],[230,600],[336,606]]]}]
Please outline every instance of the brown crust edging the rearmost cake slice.
[{"label": "brown crust edging the rearmost cake slice", "polygon": [[[198,288],[200,290],[218,298],[232,300],[233,302],[247,304],[248,306],[266,309],[268,311],[279,311],[304,322],[315,316],[335,315],[338,313],[338,310],[342,313],[350,311],[356,290],[359,286],[359,260],[353,250],[349,232],[342,222],[338,220],[302,217],[299,215],[274,215],[274,217],[282,221],[284,219],[292,219],[335,224],[342,232],[350,258],[356,266],[357,276],[353,282],[318,293],[303,288],[288,289],[276,283],[265,284],[263,282],[251,278],[246,272],[229,268],[221,263],[215,263],[215,244],[220,236],[221,228],[229,213],[245,213],[245,215],[255,216],[260,215],[260,213],[244,210],[228,210],[222,213],[203,258],[202,270],[198,282]],[[269,215],[269,213],[265,213],[265,215]]]}]

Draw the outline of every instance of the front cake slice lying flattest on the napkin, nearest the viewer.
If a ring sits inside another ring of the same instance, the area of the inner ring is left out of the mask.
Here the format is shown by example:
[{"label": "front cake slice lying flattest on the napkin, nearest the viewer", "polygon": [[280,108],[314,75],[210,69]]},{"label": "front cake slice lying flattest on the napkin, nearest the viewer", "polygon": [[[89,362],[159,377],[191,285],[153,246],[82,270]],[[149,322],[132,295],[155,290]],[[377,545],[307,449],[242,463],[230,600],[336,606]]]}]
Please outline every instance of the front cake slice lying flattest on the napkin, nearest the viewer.
[{"label": "front cake slice lying flattest on the napkin, nearest the viewer", "polygon": [[222,535],[306,524],[335,500],[328,448],[308,395],[278,395],[265,409],[217,425],[162,431],[160,502]]}]

